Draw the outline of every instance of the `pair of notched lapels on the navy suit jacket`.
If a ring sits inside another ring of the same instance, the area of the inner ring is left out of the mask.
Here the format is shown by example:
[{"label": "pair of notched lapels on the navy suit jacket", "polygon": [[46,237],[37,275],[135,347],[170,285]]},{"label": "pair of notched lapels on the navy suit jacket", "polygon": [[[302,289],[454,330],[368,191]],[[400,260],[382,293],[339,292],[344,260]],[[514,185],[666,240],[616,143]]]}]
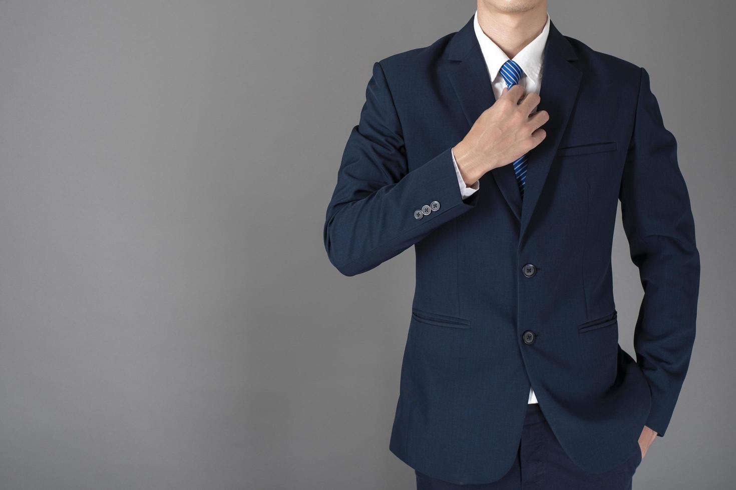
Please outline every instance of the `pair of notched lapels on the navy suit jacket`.
[{"label": "pair of notched lapels on the navy suit jacket", "polygon": [[[447,46],[447,57],[452,60],[447,74],[467,119],[468,129],[478,116],[495,103],[491,80],[486,69],[481,46],[475,38],[473,18],[460,29]],[[526,187],[522,200],[512,165],[503,165],[491,172],[492,179],[520,221],[520,237],[528,228],[531,215],[539,201],[554,155],[562,134],[567,128],[575,105],[582,78],[581,71],[570,61],[577,56],[570,42],[550,21],[550,32],[545,45],[542,65],[542,88],[537,110],[549,112],[550,119],[542,126],[547,136],[528,153]],[[488,174],[481,178],[481,185],[488,181]],[[489,183],[489,182],[488,182]]]}]

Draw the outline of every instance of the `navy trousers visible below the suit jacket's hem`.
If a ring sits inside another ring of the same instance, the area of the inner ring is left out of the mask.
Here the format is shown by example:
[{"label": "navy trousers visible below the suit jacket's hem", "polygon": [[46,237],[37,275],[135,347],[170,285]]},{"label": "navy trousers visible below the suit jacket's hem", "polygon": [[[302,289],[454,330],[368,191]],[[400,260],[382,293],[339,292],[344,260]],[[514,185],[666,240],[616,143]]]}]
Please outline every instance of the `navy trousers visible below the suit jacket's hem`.
[{"label": "navy trousers visible below the suit jacket's hem", "polygon": [[631,457],[610,471],[594,475],[584,472],[557,442],[539,404],[529,404],[519,450],[511,469],[500,480],[481,485],[458,485],[417,474],[417,490],[631,490],[641,463],[639,442]]}]

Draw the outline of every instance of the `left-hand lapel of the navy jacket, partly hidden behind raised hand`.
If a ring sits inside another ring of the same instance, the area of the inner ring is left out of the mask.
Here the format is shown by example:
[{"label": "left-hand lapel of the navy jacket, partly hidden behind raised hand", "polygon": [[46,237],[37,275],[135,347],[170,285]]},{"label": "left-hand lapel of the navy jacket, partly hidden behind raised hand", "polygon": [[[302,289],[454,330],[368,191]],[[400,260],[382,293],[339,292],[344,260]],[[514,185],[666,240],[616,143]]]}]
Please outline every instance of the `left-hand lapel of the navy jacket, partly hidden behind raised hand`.
[{"label": "left-hand lapel of the navy jacket, partly hidden behind raised hand", "polygon": [[[475,37],[473,18],[470,18],[470,21],[453,36],[447,51],[450,60],[455,60],[453,65],[450,65],[448,76],[467,119],[467,129],[470,129],[481,113],[496,101],[483,52]],[[512,165],[495,168],[490,174],[492,179],[495,179],[503,198],[509,203],[514,216],[517,220],[521,220],[521,194]],[[488,184],[490,181],[486,173],[481,177],[481,187]]]}]

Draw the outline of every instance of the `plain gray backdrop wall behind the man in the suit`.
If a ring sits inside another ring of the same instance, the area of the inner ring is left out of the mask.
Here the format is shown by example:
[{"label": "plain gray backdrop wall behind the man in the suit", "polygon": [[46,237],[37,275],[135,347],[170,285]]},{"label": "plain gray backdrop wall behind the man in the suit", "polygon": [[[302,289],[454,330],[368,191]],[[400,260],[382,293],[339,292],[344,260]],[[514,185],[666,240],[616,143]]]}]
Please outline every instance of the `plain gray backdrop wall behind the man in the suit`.
[{"label": "plain gray backdrop wall behind the man in the suit", "polygon": [[[0,488],[411,489],[388,450],[414,252],[322,224],[372,63],[475,3],[0,1]],[[698,336],[640,489],[735,478],[730,1],[552,1],[679,141]],[[621,345],[641,299],[620,220]]]}]

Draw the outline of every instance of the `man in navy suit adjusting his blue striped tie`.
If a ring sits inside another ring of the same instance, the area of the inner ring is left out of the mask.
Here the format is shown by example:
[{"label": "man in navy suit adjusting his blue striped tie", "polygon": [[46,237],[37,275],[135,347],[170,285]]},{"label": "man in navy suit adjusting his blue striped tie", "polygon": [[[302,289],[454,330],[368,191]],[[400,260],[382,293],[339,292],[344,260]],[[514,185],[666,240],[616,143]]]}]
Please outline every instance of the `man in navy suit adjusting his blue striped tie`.
[{"label": "man in navy suit adjusting his blue striped tie", "polygon": [[[373,66],[325,220],[344,275],[414,245],[390,450],[419,489],[626,489],[690,362],[700,262],[649,74],[478,0]],[[618,201],[644,298],[618,345]]]}]

